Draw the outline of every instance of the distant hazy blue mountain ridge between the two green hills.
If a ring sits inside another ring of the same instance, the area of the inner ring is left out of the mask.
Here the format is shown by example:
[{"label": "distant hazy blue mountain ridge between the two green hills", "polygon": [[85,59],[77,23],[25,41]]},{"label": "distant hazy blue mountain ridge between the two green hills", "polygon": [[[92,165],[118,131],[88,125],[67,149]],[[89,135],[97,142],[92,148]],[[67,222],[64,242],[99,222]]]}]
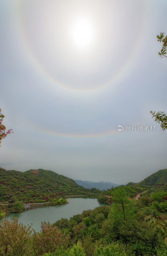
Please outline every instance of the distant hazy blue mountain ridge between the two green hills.
[{"label": "distant hazy blue mountain ridge between the two green hills", "polygon": [[93,182],[93,181],[83,181],[83,180],[74,180],[78,185],[82,186],[83,188],[97,188],[100,190],[107,190],[115,187],[118,187],[118,184],[115,183],[111,183],[111,182],[104,182],[104,181],[100,181],[100,182]]}]

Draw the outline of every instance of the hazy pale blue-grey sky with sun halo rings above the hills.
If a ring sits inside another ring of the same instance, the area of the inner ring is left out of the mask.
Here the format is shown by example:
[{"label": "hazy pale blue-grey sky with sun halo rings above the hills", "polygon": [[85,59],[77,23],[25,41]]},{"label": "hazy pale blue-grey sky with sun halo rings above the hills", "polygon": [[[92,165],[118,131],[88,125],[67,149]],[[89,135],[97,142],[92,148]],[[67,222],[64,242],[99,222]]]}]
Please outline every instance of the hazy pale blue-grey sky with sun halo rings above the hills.
[{"label": "hazy pale blue-grey sky with sun halo rings above the hills", "polygon": [[166,0],[1,0],[0,108],[14,133],[0,167],[117,184],[167,168],[167,131],[149,113],[167,112],[166,12]]}]

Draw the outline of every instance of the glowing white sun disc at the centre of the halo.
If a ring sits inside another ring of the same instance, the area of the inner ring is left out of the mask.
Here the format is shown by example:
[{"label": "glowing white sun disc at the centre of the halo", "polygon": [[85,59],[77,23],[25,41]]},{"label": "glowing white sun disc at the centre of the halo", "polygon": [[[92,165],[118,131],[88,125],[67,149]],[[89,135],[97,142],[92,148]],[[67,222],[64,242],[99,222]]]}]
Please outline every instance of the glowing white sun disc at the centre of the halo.
[{"label": "glowing white sun disc at the centre of the halo", "polygon": [[72,28],[72,37],[78,47],[87,47],[93,41],[93,27],[89,20],[77,20]]}]

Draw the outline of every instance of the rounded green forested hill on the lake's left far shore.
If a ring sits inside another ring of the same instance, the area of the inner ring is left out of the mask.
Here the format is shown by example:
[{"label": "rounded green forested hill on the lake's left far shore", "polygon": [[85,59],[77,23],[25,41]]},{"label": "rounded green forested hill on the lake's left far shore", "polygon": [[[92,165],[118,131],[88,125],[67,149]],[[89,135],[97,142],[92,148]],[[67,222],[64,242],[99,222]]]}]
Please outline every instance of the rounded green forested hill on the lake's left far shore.
[{"label": "rounded green forested hill on the lake's left far shore", "polygon": [[0,202],[47,202],[63,195],[89,195],[72,179],[55,172],[38,169],[26,172],[0,168]]}]

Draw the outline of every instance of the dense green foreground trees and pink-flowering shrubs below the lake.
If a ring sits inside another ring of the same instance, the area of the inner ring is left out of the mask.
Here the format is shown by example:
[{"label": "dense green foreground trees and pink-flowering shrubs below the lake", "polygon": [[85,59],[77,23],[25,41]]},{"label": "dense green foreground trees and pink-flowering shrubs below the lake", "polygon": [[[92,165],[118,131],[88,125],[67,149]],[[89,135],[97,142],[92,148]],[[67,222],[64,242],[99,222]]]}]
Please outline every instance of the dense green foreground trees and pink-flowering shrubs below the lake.
[{"label": "dense green foreground trees and pink-flowering shrubs below the lake", "polygon": [[41,232],[33,234],[16,219],[5,220],[0,224],[1,255],[16,255],[24,237],[18,256],[166,256],[166,192],[149,189],[134,200],[126,186],[119,186],[112,198],[111,205],[69,220],[44,222]]}]

